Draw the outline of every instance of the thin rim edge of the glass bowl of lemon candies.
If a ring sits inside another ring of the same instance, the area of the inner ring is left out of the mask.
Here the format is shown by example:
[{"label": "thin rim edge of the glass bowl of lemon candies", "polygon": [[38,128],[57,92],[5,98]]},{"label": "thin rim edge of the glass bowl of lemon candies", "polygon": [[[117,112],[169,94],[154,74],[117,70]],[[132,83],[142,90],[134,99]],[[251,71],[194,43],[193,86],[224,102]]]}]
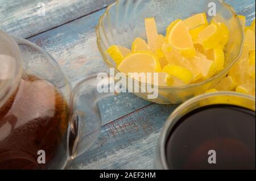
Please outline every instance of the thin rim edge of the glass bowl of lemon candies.
[{"label": "thin rim edge of the glass bowl of lemon candies", "polygon": [[[109,6],[106,8],[106,11],[104,12],[104,14],[102,14],[102,15],[100,16],[100,19],[98,20],[98,24],[97,24],[97,26],[96,26],[96,36],[97,36],[97,47],[98,47],[98,50],[100,51],[101,56],[102,56],[102,58],[103,58],[105,64],[107,64],[110,68],[115,69],[115,72],[117,72],[117,73],[120,73],[120,71],[119,71],[115,66],[113,66],[112,64],[109,64],[108,61],[106,61],[106,60],[108,60],[108,58],[106,57],[106,54],[105,54],[105,52],[104,52],[104,49],[103,49],[102,46],[101,46],[101,39],[102,39],[102,37],[101,37],[101,34],[100,34],[100,27],[102,27],[103,20],[104,20],[105,17],[108,16],[108,13],[109,13],[110,9],[112,9],[114,6],[118,5],[118,4],[120,3],[120,1],[121,1],[121,0],[117,0],[117,1],[115,1],[114,3],[112,3],[111,5],[109,5]],[[237,15],[236,12],[234,11],[233,7],[230,6],[228,3],[224,2],[224,1],[221,1],[221,0],[217,0],[217,1],[219,1],[219,2],[222,4],[222,6],[228,7],[228,9],[230,10],[230,12],[232,12],[232,14],[233,14],[234,16]],[[238,18],[238,17],[237,17],[237,18]],[[241,28],[242,28],[242,26],[241,26]],[[221,77],[222,75],[228,73],[228,70],[230,70],[230,68],[232,68],[232,66],[233,66],[233,65],[239,60],[239,58],[241,57],[241,54],[242,54],[242,46],[243,46],[243,43],[244,43],[244,41],[245,41],[245,37],[244,37],[245,35],[244,35],[243,32],[242,32],[242,35],[241,35],[241,36],[242,36],[242,43],[241,43],[240,52],[239,52],[238,56],[237,56],[228,66],[226,66],[225,69],[221,70],[220,72],[218,72],[218,73],[217,73],[216,75],[214,75],[213,77],[210,77],[210,78],[208,78],[208,79],[206,79],[206,80],[204,80],[204,81],[201,81],[201,82],[199,82],[199,83],[193,83],[193,84],[191,84],[191,85],[186,85],[186,86],[181,86],[181,87],[158,86],[158,89],[159,89],[159,90],[182,90],[182,89],[189,89],[189,88],[191,88],[191,87],[197,87],[197,86],[205,85],[206,83],[211,82],[211,81],[213,81],[214,79],[217,79],[218,77]],[[127,75],[124,75],[124,76],[125,76],[127,79],[133,79],[133,78],[128,77]],[[137,80],[135,80],[135,79],[133,79],[133,81],[136,82],[136,83],[142,83],[142,82],[139,82],[139,81],[137,81]],[[149,84],[149,85],[150,85],[150,84]]]}]

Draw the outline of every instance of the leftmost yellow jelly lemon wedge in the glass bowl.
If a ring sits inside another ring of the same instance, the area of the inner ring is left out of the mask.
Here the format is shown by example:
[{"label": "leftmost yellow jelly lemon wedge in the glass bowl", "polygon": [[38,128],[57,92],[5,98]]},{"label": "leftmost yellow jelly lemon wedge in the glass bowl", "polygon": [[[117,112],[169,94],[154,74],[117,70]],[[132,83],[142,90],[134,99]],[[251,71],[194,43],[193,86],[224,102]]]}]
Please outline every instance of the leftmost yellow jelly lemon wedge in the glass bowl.
[{"label": "leftmost yellow jelly lemon wedge in the glass bowl", "polygon": [[113,45],[109,47],[107,52],[109,56],[114,60],[115,64],[117,64],[118,66],[119,64],[121,64],[123,58],[125,58],[125,56],[130,53],[130,50],[125,47]]}]

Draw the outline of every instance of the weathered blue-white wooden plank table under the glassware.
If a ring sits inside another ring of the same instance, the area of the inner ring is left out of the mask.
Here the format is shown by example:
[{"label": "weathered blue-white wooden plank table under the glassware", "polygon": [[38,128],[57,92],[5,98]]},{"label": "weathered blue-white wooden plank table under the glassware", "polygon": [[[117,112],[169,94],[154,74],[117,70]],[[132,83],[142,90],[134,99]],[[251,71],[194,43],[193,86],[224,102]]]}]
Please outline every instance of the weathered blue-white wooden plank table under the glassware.
[{"label": "weathered blue-white wooden plank table under the glassware", "polygon": [[[108,72],[97,49],[95,27],[113,2],[0,0],[0,29],[50,53],[74,86],[83,78]],[[254,0],[226,2],[247,16],[247,24],[255,18]],[[40,5],[45,5],[45,16],[38,14],[42,12]],[[153,104],[133,94],[118,95],[102,105],[104,125],[98,140],[66,169],[153,169],[160,130],[177,106]]]}]

